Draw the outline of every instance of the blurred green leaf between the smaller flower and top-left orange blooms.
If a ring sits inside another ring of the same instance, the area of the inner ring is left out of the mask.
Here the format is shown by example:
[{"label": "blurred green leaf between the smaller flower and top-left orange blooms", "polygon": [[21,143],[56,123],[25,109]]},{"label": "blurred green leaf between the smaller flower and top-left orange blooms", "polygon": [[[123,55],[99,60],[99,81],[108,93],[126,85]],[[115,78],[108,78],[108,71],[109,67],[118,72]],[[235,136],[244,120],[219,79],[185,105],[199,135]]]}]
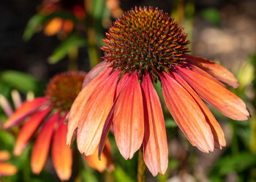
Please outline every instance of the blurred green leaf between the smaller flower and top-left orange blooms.
[{"label": "blurred green leaf between the smaller flower and top-left orange blooms", "polygon": [[61,45],[56,48],[48,61],[51,64],[57,63],[59,60],[64,58],[70,50],[83,46],[86,46],[86,39],[73,33],[67,39],[62,41]]}]

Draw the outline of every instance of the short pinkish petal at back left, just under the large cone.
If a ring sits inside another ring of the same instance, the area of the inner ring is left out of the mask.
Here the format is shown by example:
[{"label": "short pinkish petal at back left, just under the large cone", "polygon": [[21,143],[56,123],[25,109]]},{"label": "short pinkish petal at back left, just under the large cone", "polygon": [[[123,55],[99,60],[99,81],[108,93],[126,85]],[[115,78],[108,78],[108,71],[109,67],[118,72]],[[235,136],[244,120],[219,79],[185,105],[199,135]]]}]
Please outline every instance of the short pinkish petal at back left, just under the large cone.
[{"label": "short pinkish petal at back left, just under the large cone", "polygon": [[94,68],[89,71],[86,75],[86,78],[83,80],[83,87],[86,87],[87,84],[91,82],[101,71],[103,71],[108,66],[107,61],[102,61],[101,63],[97,64]]}]

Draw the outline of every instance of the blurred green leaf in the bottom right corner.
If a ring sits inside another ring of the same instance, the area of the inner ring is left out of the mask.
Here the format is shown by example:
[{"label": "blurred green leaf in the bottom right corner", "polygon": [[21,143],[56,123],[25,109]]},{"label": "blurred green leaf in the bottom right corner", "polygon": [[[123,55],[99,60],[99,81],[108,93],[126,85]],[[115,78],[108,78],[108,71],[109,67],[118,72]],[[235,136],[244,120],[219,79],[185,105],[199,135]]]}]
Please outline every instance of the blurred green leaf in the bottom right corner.
[{"label": "blurred green leaf in the bottom right corner", "polygon": [[222,157],[222,159],[217,162],[214,169],[212,170],[212,175],[226,175],[230,172],[241,172],[243,170],[249,169],[252,165],[256,164],[256,156],[243,152],[233,156]]}]

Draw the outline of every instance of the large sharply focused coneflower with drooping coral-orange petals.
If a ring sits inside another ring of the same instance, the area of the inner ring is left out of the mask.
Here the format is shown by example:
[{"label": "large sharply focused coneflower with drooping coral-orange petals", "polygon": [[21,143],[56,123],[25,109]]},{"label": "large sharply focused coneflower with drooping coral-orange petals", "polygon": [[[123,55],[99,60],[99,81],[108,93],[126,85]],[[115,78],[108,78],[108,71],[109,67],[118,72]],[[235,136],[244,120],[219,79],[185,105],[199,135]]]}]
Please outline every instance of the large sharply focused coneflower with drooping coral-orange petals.
[{"label": "large sharply focused coneflower with drooping coral-orange petals", "polygon": [[244,102],[221,82],[238,87],[233,74],[205,58],[187,55],[187,34],[167,13],[135,8],[119,17],[106,33],[105,61],[72,105],[67,143],[78,128],[78,149],[99,154],[110,125],[119,151],[131,159],[141,145],[153,175],[168,162],[165,120],[153,82],[161,82],[167,108],[187,139],[200,151],[222,149],[225,137],[206,100],[231,119],[246,120]]}]

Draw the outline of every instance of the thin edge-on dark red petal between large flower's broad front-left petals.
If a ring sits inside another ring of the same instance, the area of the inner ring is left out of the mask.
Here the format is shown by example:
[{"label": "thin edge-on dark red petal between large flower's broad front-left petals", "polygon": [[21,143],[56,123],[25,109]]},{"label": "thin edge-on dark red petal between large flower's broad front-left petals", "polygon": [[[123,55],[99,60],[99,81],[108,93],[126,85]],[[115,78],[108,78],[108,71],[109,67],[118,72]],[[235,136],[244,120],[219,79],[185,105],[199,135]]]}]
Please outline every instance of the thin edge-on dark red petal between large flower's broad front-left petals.
[{"label": "thin edge-on dark red petal between large flower's broad front-left petals", "polygon": [[[118,98],[119,92],[124,87],[124,84],[126,84],[128,77],[129,77],[129,74],[124,74],[124,76],[122,76],[120,81],[118,82],[118,85],[116,87],[116,98]],[[113,122],[113,114],[114,114],[115,109],[116,109],[116,100],[113,103],[113,106],[108,114],[108,117],[105,121],[103,130],[102,130],[102,136],[99,141],[99,151],[98,151],[99,159],[100,159],[100,155],[102,154],[102,149],[104,149],[105,141],[108,138],[108,132],[109,132],[110,126]]]}]

